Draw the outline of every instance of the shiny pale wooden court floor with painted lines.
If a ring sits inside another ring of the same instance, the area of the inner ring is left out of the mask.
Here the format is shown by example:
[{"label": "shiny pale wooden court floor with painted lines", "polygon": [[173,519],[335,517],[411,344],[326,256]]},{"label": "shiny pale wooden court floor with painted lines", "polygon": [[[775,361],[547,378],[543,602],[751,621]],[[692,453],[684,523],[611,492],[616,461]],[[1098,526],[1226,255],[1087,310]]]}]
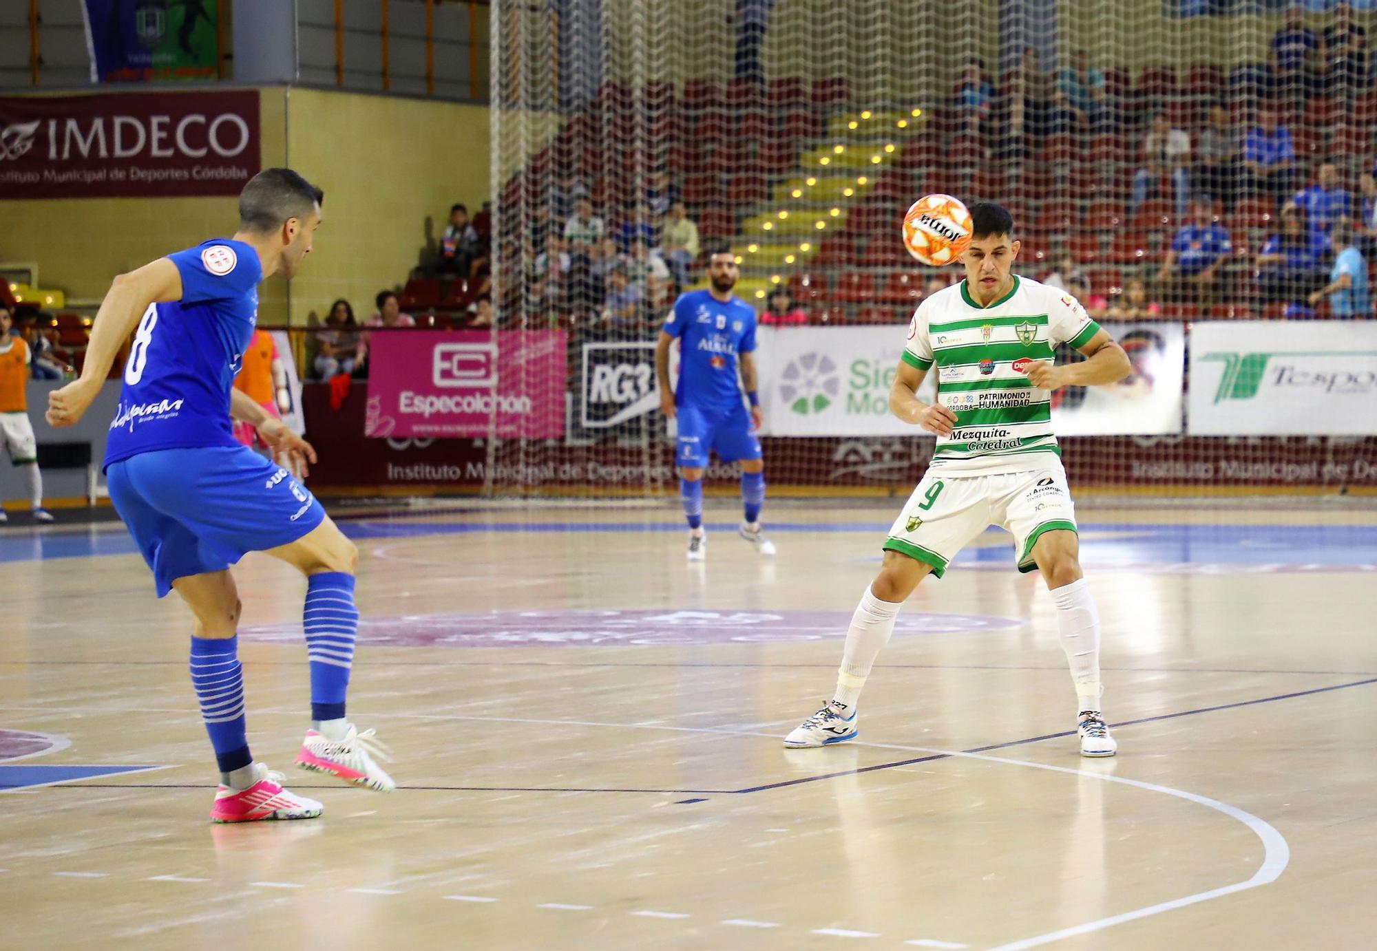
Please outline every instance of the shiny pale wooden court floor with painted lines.
[{"label": "shiny pale wooden court floor with painted lines", "polygon": [[[1369,504],[1370,505],[1370,504]],[[379,795],[291,771],[304,584],[249,556],[253,750],[324,801],[212,826],[189,615],[118,524],[0,531],[3,948],[1377,947],[1377,512],[1082,504],[1120,756],[991,531],[829,695],[896,504],[350,509]]]}]

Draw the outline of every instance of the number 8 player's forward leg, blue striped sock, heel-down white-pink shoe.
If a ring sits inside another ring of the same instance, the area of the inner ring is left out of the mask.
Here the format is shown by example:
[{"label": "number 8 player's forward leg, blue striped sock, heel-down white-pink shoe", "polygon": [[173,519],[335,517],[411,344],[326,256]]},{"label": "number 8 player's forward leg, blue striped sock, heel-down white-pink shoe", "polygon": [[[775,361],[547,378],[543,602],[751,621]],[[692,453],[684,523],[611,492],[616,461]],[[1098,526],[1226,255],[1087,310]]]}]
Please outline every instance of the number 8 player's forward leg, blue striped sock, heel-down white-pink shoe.
[{"label": "number 8 player's forward leg, blue striped sock, heel-down white-pink shoe", "polygon": [[302,740],[296,765],[379,793],[392,791],[397,784],[376,762],[387,757],[373,739],[373,731],[361,732],[346,717],[358,637],[354,600],[358,548],[322,515],[311,531],[264,553],[306,575],[302,626],[311,673],[311,728]]}]

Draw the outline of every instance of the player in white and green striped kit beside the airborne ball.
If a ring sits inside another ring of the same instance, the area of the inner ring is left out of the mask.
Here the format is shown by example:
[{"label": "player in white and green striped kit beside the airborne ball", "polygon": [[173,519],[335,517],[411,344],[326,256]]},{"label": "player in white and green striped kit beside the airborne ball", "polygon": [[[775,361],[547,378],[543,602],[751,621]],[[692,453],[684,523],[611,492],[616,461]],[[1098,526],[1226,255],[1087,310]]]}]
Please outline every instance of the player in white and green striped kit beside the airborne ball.
[{"label": "player in white and green striped kit beside the airborne ball", "polygon": [[[971,206],[965,281],[924,300],[890,392],[905,423],[936,434],[932,464],[885,539],[884,566],[851,618],[833,698],[785,738],[788,747],[829,746],[858,735],[856,701],[899,606],[986,527],[1013,534],[1020,571],[1041,570],[1056,603],[1062,647],[1075,683],[1082,756],[1114,756],[1100,712],[1100,625],[1078,562],[1075,509],[1052,432],[1051,392],[1115,383],[1124,350],[1060,290],[1012,273],[1019,242],[1009,213]],[[1086,361],[1055,366],[1069,343]],[[938,398],[918,387],[936,367]]]}]

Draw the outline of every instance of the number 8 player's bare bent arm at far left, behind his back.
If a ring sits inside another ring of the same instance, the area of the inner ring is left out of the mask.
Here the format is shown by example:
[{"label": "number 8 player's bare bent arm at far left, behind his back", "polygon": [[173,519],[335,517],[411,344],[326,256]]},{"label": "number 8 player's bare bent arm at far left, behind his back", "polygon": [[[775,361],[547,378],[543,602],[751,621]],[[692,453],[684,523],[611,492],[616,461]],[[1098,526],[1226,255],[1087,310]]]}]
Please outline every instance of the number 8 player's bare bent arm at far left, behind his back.
[{"label": "number 8 player's bare bent arm at far left, behind his back", "polygon": [[182,274],[167,257],[116,277],[96,311],[81,376],[48,394],[48,423],[69,427],[80,420],[101,392],[120,347],[134,333],[149,307],[180,297]]}]

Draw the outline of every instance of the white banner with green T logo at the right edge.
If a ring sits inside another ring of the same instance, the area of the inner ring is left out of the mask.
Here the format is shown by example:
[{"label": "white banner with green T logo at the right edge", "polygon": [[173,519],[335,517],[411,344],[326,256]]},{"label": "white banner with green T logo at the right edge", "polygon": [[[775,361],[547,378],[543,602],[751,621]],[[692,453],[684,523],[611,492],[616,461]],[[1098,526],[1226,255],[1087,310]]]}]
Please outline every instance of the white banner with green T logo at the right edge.
[{"label": "white banner with green T logo at the right edge", "polygon": [[1199,436],[1377,435],[1377,323],[1194,323],[1188,406]]}]

